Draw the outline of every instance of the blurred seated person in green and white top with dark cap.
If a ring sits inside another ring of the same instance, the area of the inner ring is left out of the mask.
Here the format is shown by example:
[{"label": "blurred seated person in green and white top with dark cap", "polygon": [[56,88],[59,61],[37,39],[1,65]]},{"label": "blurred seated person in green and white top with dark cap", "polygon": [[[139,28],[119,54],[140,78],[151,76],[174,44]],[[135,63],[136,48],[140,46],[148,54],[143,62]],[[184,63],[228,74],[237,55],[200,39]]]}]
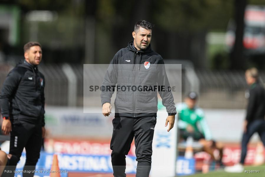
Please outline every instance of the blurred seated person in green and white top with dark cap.
[{"label": "blurred seated person in green and white top with dark cap", "polygon": [[[194,140],[203,145],[203,150],[210,154],[211,158],[222,164],[223,145],[212,140],[209,127],[204,119],[203,110],[196,106],[197,94],[190,92],[185,103],[177,104],[178,128],[180,129],[180,140],[186,140],[191,136]],[[219,155],[214,155],[214,150],[219,151]]]}]

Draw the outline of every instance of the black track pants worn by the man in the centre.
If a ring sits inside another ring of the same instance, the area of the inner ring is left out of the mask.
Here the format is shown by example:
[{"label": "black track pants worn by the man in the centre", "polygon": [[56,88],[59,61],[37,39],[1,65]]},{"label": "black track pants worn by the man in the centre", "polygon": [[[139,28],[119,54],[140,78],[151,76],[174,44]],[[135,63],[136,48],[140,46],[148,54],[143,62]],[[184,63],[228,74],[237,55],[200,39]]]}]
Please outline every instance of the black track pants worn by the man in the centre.
[{"label": "black track pants worn by the man in the centre", "polygon": [[148,177],[151,170],[152,142],[156,117],[115,117],[111,138],[113,175],[125,177],[125,155],[134,138],[137,169],[136,177]]}]

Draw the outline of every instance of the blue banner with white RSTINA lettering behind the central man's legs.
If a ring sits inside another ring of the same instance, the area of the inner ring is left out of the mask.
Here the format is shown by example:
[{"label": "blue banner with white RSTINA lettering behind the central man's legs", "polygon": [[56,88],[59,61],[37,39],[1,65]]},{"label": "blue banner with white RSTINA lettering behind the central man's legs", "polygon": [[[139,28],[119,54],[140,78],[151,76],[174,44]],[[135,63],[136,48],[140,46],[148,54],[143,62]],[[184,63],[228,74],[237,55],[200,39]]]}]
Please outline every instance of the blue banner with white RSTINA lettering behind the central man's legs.
[{"label": "blue banner with white RSTINA lettering behind the central man's legs", "polygon": [[[113,173],[110,155],[73,155],[57,154],[60,171],[87,172],[87,173]],[[49,172],[52,165],[53,154],[41,152],[36,166],[36,176],[43,176]],[[22,153],[17,171],[22,171],[26,161],[25,153]],[[136,173],[136,157],[126,156],[126,173]],[[41,172],[41,173],[39,173]],[[45,173],[44,173],[45,172]],[[61,176],[64,173],[61,173]],[[19,174],[18,174],[19,175]],[[17,176],[19,177],[19,176]]]}]

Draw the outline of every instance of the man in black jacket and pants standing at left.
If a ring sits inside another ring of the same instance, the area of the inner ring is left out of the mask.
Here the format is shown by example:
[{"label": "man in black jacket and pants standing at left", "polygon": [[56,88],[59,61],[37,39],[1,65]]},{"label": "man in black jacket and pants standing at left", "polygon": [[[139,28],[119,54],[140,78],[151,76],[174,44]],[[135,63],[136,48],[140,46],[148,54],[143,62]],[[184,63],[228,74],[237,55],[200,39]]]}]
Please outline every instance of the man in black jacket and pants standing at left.
[{"label": "man in black jacket and pants standing at left", "polygon": [[34,176],[39,159],[42,138],[45,135],[44,87],[45,78],[37,65],[42,60],[42,49],[38,42],[24,45],[25,60],[19,62],[6,76],[0,105],[3,116],[2,131],[10,133],[9,160],[3,176],[14,176],[14,170],[23,149],[26,149],[26,163],[23,176]]}]

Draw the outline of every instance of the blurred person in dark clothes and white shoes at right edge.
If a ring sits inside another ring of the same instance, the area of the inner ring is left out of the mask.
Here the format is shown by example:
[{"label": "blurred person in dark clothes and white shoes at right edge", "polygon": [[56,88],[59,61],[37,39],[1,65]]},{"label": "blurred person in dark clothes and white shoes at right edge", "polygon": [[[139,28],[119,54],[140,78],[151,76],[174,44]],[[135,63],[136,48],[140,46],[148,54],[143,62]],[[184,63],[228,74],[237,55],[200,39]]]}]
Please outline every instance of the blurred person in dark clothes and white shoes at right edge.
[{"label": "blurred person in dark clothes and white shoes at right edge", "polygon": [[227,172],[243,172],[243,164],[247,154],[247,145],[252,135],[257,132],[265,146],[265,90],[259,83],[259,72],[256,68],[250,68],[245,73],[246,82],[249,85],[249,98],[246,119],[243,123],[243,138],[241,142],[240,163],[226,167]]}]

